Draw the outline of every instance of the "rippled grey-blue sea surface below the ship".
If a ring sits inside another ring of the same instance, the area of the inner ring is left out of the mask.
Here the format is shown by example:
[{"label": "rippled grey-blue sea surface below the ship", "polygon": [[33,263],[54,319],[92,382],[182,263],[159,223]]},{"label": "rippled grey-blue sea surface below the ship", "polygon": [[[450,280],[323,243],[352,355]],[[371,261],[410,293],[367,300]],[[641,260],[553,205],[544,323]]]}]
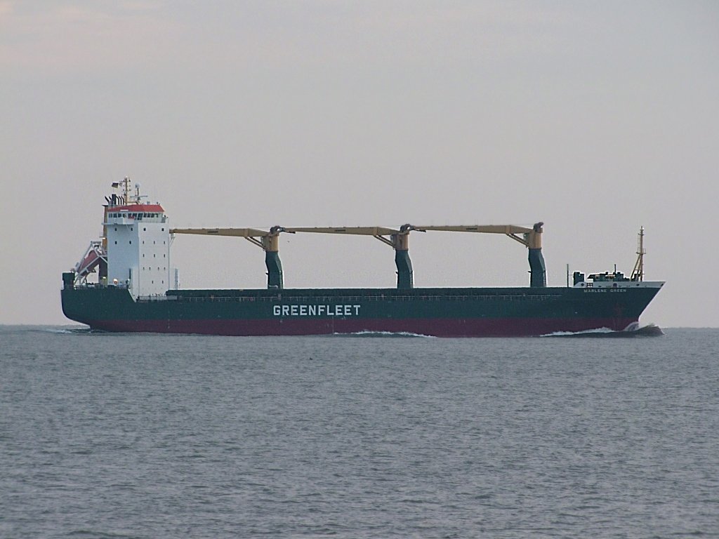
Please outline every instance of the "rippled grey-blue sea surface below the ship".
[{"label": "rippled grey-blue sea surface below the ship", "polygon": [[719,537],[719,330],[665,333],[0,326],[0,537]]}]

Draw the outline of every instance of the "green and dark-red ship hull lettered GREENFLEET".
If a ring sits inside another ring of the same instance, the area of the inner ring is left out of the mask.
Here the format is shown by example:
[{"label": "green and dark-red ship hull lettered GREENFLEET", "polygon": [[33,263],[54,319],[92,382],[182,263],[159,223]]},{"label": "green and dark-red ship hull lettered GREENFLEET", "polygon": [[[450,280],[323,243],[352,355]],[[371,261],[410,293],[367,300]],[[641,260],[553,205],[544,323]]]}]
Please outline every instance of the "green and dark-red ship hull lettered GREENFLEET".
[{"label": "green and dark-red ship hull lettered GREENFLEET", "polygon": [[119,287],[65,287],[63,312],[104,331],[227,336],[414,333],[539,336],[638,321],[659,287],[587,290],[414,288],[172,290],[134,300]]}]

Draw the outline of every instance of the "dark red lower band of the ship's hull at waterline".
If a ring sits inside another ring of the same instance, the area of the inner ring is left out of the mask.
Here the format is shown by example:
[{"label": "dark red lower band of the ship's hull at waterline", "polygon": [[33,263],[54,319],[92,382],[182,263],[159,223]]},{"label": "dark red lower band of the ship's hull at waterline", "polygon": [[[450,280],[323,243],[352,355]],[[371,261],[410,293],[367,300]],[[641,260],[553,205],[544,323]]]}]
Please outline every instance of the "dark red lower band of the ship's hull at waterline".
[{"label": "dark red lower band of the ship's hull at waterline", "polygon": [[622,331],[636,318],[323,318],[266,320],[103,320],[93,329],[226,336],[331,335],[334,333],[413,333],[436,337],[540,336],[559,331],[608,328]]}]

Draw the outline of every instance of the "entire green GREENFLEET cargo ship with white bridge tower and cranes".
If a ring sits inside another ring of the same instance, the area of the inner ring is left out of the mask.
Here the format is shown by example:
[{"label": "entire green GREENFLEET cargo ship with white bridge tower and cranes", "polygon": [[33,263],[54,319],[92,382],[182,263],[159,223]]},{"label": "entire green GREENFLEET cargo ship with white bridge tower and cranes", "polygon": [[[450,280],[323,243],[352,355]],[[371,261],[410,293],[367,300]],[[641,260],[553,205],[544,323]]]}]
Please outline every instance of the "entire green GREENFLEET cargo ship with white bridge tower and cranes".
[{"label": "entire green GREENFLEET cargo ship with white bridge tower and cranes", "polygon": [[[227,336],[400,333],[442,337],[541,336],[600,328],[627,331],[664,285],[644,280],[644,229],[630,275],[574,272],[548,287],[543,223],[515,225],[173,229],[139,184],[113,183],[101,239],[63,273],[63,313],[93,330]],[[414,287],[413,232],[501,234],[528,251],[528,287]],[[267,288],[184,290],[170,264],[178,234],[244,238],[265,252]],[[293,288],[283,282],[280,234],[372,236],[392,247],[396,288]]]}]

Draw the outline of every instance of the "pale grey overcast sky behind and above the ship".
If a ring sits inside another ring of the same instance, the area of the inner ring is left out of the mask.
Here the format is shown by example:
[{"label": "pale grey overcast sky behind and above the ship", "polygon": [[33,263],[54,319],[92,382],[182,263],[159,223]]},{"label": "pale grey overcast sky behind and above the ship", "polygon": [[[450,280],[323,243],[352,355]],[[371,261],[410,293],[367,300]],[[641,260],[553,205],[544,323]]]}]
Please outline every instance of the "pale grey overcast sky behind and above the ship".
[{"label": "pale grey overcast sky behind and above the ship", "polygon": [[[719,2],[0,1],[0,323],[69,323],[61,273],[129,175],[173,226],[544,221],[572,270],[719,327]],[[526,285],[503,236],[412,234],[416,286]],[[264,287],[178,236],[183,287]],[[286,287],[395,285],[372,238],[283,235]]]}]

